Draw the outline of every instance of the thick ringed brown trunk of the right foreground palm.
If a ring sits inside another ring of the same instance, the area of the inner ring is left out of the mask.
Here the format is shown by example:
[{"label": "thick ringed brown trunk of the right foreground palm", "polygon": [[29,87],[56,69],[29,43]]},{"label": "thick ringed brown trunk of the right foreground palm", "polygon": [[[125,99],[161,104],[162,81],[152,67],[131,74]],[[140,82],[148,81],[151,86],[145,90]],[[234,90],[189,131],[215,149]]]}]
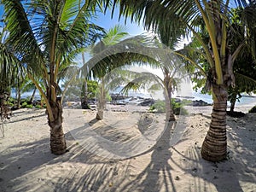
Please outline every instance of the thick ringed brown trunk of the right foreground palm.
[{"label": "thick ringed brown trunk of the right foreground palm", "polygon": [[213,93],[217,98],[213,100],[212,121],[207,136],[202,144],[201,156],[205,160],[225,160],[227,155],[226,137],[226,109],[228,90],[224,85],[214,84]]}]

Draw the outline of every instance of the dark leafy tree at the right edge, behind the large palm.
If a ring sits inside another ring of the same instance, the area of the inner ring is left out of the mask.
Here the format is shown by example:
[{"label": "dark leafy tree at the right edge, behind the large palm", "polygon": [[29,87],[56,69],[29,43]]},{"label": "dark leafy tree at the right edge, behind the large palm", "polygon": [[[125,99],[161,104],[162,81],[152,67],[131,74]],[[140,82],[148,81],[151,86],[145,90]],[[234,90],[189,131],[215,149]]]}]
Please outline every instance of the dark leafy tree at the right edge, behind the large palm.
[{"label": "dark leafy tree at the right edge, behind the large palm", "polygon": [[[250,7],[247,9],[250,10]],[[231,27],[234,30],[230,30],[230,49],[235,50],[241,42],[245,39],[242,35],[237,33],[244,33],[244,21],[247,22],[247,18],[244,18],[243,9],[232,9],[232,21]],[[241,22],[243,21],[243,22]],[[249,32],[255,32],[256,26],[250,23]],[[234,61],[234,74],[236,78],[236,87],[229,88],[229,99],[230,99],[230,114],[234,113],[236,101],[241,98],[241,93],[251,93],[256,90],[256,65],[255,62],[255,34],[249,34],[250,41],[247,46],[241,49],[237,55],[236,61]],[[254,36],[254,37],[253,37]],[[249,45],[251,44],[251,45]],[[254,50],[253,50],[254,47]]]}]

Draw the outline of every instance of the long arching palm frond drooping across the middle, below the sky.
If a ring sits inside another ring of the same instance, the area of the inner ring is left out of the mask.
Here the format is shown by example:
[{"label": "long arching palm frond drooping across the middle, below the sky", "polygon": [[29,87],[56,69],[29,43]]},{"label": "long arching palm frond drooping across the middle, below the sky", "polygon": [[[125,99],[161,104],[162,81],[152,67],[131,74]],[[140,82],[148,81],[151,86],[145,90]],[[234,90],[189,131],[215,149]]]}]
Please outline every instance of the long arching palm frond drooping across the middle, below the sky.
[{"label": "long arching palm frond drooping across the middle, below the sky", "polygon": [[172,71],[181,63],[171,49],[160,44],[154,37],[136,36],[127,38],[119,44],[96,53],[84,67],[92,69],[95,74],[104,75],[113,67],[124,65],[149,65],[150,67],[163,67]]}]

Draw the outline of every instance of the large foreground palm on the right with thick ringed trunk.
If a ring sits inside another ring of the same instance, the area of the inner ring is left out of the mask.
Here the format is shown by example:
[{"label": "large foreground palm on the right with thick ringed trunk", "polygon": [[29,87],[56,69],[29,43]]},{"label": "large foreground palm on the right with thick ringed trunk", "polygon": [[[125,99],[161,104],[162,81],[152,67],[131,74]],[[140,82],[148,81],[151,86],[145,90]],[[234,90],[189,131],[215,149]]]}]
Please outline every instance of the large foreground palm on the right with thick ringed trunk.
[{"label": "large foreground palm on the right with thick ringed trunk", "polygon": [[[253,1],[248,2],[253,3]],[[225,160],[227,155],[226,108],[228,87],[235,82],[232,63],[242,48],[240,45],[232,53],[228,46],[227,26],[230,25],[230,1],[113,1],[113,5],[117,3],[120,4],[120,15],[131,16],[131,20],[143,20],[143,25],[148,30],[153,29],[157,33],[165,32],[166,37],[172,38],[177,37],[177,32],[180,32],[179,28],[182,28],[186,30],[187,34],[193,33],[198,44],[201,44],[203,51],[199,49],[195,51],[207,60],[210,70],[207,73],[200,66],[197,67],[207,74],[207,87],[212,90],[213,98],[212,121],[201,148],[201,155],[205,160]],[[245,0],[236,0],[236,4],[239,6],[248,5]],[[209,35],[208,44],[205,44],[198,33],[201,28],[197,27],[197,23],[201,19]],[[184,55],[181,56],[185,57]]]}]

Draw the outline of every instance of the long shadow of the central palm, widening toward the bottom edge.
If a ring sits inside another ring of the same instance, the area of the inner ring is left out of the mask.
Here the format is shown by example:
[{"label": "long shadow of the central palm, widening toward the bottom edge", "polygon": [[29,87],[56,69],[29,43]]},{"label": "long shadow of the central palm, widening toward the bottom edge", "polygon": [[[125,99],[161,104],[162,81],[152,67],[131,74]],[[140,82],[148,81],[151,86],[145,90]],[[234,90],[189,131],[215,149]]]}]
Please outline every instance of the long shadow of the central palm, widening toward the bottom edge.
[{"label": "long shadow of the central palm, widening toward the bottom edge", "polygon": [[[160,191],[163,187],[166,191],[175,192],[172,180],[172,167],[168,160],[172,159],[170,148],[171,131],[175,126],[174,122],[167,122],[166,129],[158,142],[154,145],[151,160],[143,172],[141,172],[131,183],[125,184],[119,191]],[[160,181],[160,174],[163,181]]]}]

